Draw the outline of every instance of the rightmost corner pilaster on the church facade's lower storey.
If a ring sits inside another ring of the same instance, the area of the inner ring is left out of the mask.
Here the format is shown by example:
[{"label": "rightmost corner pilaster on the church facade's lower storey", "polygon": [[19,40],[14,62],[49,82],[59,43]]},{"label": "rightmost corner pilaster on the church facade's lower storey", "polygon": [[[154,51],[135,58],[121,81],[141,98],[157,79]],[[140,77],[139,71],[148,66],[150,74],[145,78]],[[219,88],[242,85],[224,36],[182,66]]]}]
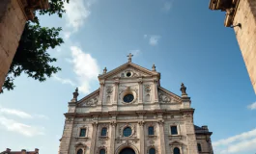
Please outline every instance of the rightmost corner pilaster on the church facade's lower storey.
[{"label": "rightmost corner pilaster on the church facade's lower storey", "polygon": [[184,119],[188,154],[198,154],[192,113],[184,113]]}]

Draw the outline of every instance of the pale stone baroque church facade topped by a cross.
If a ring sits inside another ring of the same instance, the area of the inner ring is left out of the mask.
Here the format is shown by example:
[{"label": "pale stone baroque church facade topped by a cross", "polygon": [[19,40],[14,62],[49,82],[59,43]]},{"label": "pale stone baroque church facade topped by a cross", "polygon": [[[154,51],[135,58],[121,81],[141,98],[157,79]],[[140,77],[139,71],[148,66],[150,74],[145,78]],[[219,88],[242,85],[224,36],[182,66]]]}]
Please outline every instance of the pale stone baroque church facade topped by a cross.
[{"label": "pale stone baroque church facade topped by a cross", "polygon": [[181,95],[160,86],[160,73],[131,63],[99,76],[100,89],[73,92],[59,154],[213,154],[212,132],[193,123]]}]

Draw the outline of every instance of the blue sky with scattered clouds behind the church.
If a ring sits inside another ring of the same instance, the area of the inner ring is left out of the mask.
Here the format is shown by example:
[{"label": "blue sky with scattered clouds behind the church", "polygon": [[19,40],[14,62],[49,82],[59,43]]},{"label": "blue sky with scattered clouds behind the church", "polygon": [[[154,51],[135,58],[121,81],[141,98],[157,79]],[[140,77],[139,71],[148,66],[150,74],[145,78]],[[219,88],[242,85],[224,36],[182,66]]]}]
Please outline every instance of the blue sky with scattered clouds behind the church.
[{"label": "blue sky with scattered clouds behind the church", "polygon": [[[213,131],[216,154],[256,151],[256,96],[233,29],[209,0],[72,0],[63,18],[42,16],[63,27],[65,44],[49,50],[62,71],[40,83],[16,78],[0,95],[0,149],[40,148],[57,153],[72,92],[82,98],[99,88],[98,74],[132,62],[161,73],[161,86],[187,87],[194,122]],[[0,150],[1,151],[1,150]],[[50,152],[49,152],[50,151]]]}]

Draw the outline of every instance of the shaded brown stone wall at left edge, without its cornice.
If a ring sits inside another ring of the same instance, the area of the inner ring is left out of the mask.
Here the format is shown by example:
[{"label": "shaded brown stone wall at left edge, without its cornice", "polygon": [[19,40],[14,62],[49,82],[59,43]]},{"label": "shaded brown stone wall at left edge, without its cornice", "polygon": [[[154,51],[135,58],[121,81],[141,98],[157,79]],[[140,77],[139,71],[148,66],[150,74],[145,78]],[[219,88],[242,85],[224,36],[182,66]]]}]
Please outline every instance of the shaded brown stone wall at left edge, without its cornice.
[{"label": "shaded brown stone wall at left edge, without its cornice", "polygon": [[13,62],[25,22],[17,0],[0,1],[0,90]]}]

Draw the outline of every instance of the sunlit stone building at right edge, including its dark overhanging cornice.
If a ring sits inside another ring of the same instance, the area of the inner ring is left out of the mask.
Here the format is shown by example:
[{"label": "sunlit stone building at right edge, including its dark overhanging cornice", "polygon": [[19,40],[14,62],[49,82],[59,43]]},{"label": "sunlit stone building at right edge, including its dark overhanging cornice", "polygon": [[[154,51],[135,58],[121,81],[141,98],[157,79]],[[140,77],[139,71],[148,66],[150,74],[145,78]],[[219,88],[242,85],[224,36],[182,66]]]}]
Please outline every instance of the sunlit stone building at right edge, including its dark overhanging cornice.
[{"label": "sunlit stone building at right edge, including its dark overhanging cornice", "polygon": [[224,26],[234,28],[252,87],[256,92],[256,1],[211,0],[209,8],[226,12]]}]

